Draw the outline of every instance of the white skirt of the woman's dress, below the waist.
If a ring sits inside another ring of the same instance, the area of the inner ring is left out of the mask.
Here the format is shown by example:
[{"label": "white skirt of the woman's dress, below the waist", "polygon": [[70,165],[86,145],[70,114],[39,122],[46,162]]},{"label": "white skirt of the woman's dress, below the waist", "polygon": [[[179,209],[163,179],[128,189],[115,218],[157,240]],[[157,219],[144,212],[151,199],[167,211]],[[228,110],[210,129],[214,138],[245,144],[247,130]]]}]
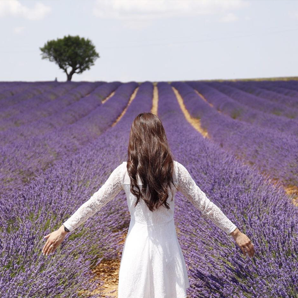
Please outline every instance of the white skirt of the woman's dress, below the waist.
[{"label": "white skirt of the woman's dress, below the waist", "polygon": [[131,218],[121,256],[118,298],[186,298],[187,287],[174,219],[147,225]]}]

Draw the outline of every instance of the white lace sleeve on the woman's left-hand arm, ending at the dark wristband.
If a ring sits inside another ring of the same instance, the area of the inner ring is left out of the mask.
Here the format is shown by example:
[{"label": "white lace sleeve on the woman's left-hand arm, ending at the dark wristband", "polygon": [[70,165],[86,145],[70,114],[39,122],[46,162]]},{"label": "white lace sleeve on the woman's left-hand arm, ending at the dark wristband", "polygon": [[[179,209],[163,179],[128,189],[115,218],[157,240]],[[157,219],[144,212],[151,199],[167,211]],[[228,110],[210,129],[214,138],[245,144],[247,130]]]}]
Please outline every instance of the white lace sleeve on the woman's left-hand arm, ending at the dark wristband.
[{"label": "white lace sleeve on the woman's left-hand arm, ending at the dark wristband", "polygon": [[63,223],[63,225],[73,231],[90,216],[108,204],[122,189],[124,163],[119,165],[106,180],[104,185],[98,189],[79,209]]}]

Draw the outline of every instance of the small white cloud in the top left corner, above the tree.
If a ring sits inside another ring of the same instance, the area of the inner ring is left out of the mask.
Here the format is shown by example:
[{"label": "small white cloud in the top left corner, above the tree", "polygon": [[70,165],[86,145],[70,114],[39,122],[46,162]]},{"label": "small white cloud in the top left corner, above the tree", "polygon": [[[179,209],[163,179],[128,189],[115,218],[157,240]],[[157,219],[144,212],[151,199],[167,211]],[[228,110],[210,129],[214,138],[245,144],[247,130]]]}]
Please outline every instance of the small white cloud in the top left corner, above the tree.
[{"label": "small white cloud in the top left corner, above the tree", "polygon": [[28,8],[18,0],[1,0],[0,17],[16,16],[28,20],[41,20],[52,8],[42,3],[36,2],[34,7]]}]

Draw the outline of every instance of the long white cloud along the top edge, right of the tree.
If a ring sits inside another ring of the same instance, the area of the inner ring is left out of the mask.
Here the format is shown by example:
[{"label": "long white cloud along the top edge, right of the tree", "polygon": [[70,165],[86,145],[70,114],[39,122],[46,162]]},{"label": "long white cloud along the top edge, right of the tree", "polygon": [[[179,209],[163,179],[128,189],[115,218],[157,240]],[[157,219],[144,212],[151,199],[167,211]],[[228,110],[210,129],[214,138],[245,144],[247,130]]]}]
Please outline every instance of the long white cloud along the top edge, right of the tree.
[{"label": "long white cloud along the top edge, right of the tree", "polygon": [[[243,0],[97,0],[93,15],[104,19],[152,20],[174,16],[226,15],[231,10],[249,5]],[[226,18],[232,19],[232,16]]]}]

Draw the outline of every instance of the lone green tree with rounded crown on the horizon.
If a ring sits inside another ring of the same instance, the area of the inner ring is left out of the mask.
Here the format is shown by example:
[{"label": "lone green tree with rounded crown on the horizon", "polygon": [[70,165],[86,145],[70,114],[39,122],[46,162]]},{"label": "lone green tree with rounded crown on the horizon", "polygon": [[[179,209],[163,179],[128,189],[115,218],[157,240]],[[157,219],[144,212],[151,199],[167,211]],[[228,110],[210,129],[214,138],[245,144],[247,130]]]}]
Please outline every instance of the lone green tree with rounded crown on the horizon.
[{"label": "lone green tree with rounded crown on the horizon", "polygon": [[[42,59],[56,62],[66,73],[68,81],[71,81],[73,74],[90,69],[94,61],[100,57],[92,42],[78,35],[48,40],[39,49],[42,52]],[[68,72],[69,67],[71,69]]]}]

